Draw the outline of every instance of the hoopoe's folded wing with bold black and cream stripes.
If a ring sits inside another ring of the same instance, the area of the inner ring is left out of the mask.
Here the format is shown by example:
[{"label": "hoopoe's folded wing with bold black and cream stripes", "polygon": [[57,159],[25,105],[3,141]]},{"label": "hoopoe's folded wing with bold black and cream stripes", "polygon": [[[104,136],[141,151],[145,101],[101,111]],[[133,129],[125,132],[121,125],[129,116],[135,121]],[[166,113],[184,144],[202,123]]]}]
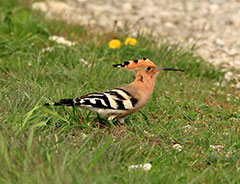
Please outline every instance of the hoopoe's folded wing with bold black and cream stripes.
[{"label": "hoopoe's folded wing with bold black and cream stripes", "polygon": [[130,110],[136,106],[137,102],[137,99],[121,88],[90,93],[74,99],[76,106],[88,109]]}]

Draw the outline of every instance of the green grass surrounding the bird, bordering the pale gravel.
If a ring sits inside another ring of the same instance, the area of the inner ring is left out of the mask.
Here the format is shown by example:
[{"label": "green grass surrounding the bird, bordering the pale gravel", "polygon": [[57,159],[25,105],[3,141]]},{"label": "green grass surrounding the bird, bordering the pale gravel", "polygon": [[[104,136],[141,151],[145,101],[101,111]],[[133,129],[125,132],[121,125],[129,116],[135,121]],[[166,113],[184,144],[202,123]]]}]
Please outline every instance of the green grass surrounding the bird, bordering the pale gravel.
[{"label": "green grass surrounding the bird, bordering the pale gravel", "polygon": [[[112,50],[108,41],[127,35],[35,15],[13,0],[0,8],[0,183],[239,183],[239,91],[214,85],[224,73],[150,36]],[[56,44],[53,34],[77,44]],[[124,126],[99,129],[95,113],[41,106],[129,83],[134,74],[112,64],[142,57],[185,72],[162,72]],[[128,170],[149,162],[149,172]]]}]

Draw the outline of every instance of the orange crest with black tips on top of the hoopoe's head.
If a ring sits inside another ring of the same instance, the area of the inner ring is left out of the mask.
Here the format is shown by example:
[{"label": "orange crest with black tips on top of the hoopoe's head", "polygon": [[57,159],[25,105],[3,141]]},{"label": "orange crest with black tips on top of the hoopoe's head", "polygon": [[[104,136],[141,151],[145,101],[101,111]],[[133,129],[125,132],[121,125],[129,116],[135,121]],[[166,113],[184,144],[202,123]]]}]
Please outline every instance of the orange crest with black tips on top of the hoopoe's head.
[{"label": "orange crest with black tips on top of the hoopoe's head", "polygon": [[143,59],[136,59],[131,61],[125,61],[122,64],[114,64],[114,67],[121,67],[129,70],[135,70],[137,68],[145,68],[145,67],[157,67],[150,59],[143,58]]}]

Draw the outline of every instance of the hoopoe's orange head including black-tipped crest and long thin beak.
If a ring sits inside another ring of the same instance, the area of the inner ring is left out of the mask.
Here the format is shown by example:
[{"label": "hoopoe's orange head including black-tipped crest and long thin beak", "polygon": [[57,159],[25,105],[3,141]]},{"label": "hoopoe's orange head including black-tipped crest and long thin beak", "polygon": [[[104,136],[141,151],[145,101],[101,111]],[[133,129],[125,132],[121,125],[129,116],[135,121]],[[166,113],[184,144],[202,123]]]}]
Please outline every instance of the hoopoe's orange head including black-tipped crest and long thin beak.
[{"label": "hoopoe's orange head including black-tipped crest and long thin beak", "polygon": [[132,61],[125,61],[122,64],[114,64],[114,67],[124,68],[127,70],[135,71],[136,73],[140,72],[143,75],[147,76],[156,76],[157,73],[161,70],[169,70],[169,71],[181,71],[182,69],[175,69],[175,68],[162,68],[156,66],[151,60],[147,58],[132,60]]}]

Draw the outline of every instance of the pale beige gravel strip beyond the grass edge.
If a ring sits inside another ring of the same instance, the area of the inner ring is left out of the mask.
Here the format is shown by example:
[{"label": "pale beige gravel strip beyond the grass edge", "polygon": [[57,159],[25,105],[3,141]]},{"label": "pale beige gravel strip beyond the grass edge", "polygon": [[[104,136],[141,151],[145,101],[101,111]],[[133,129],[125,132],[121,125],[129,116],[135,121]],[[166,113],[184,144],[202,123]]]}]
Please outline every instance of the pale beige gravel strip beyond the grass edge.
[{"label": "pale beige gravel strip beyond the grass edge", "polygon": [[240,71],[239,0],[65,0],[32,4],[49,18],[94,30],[152,33],[225,70]]}]

